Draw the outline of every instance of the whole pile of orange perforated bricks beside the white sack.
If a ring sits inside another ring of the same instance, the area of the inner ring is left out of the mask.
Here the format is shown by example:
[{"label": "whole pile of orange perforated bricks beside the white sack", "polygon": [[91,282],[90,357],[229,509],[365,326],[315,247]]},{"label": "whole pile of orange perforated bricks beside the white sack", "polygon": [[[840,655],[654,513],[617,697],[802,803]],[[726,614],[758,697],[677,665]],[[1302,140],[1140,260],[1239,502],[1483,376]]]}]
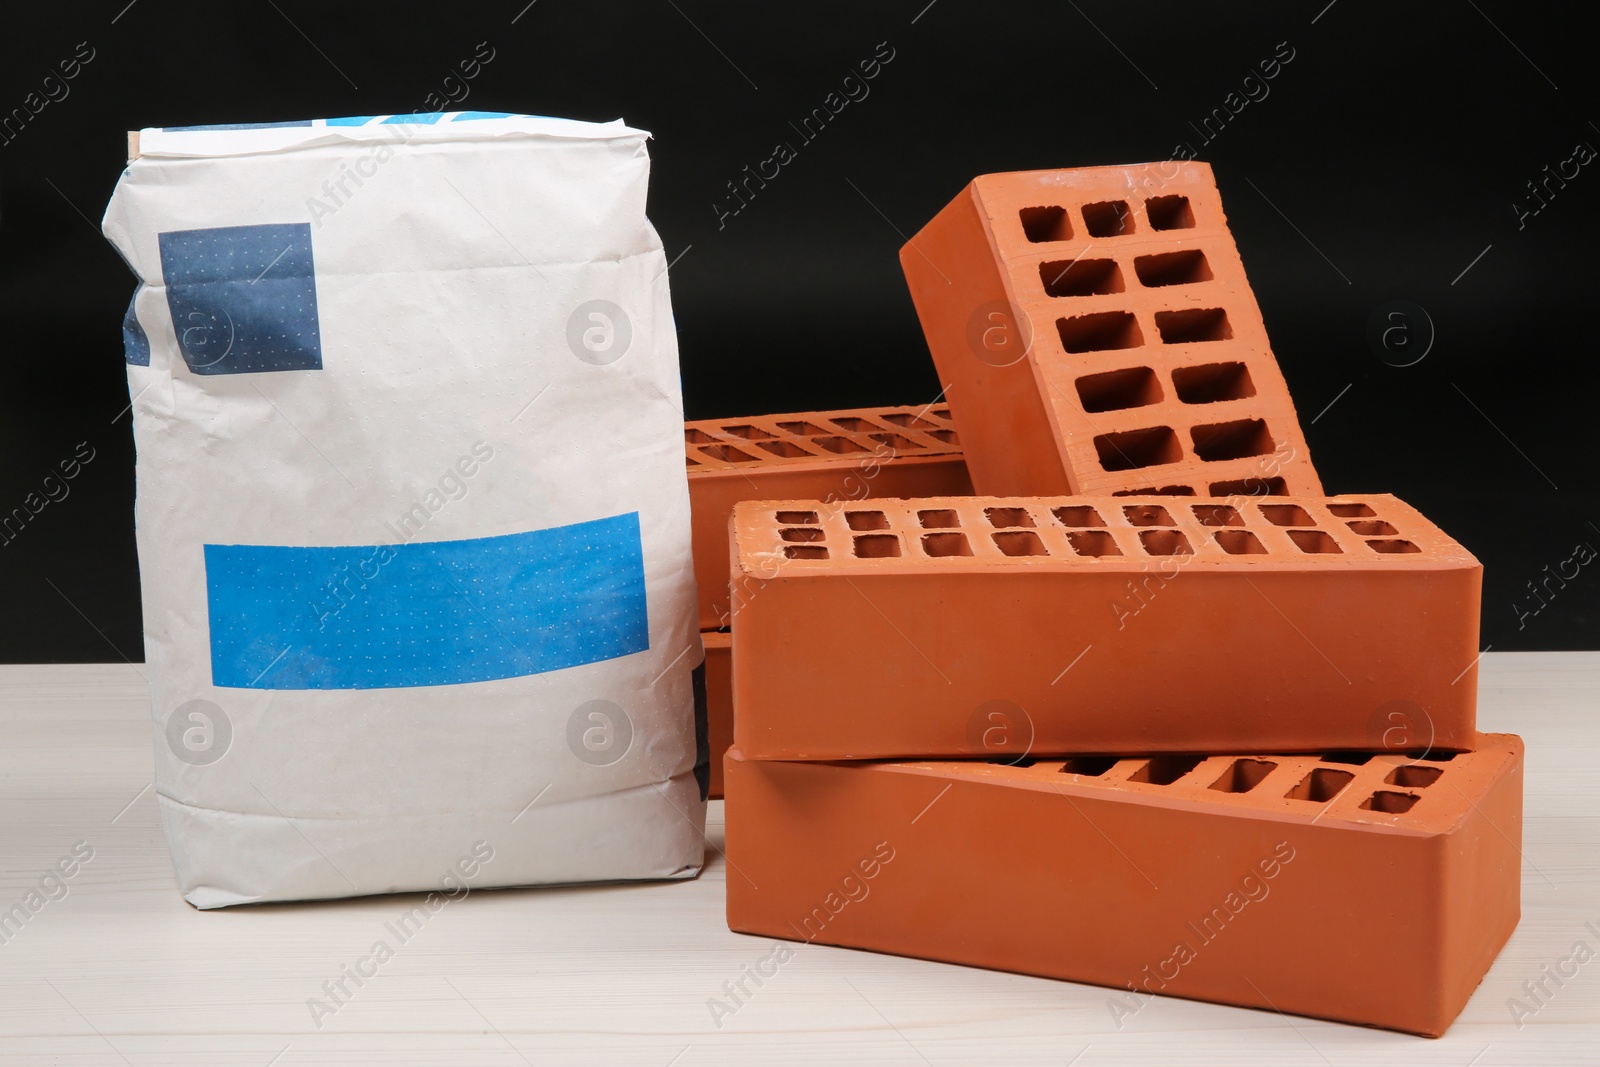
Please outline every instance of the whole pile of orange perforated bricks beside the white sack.
[{"label": "whole pile of orange perforated bricks beside the white sack", "polygon": [[1323,493],[1210,168],[901,262],[944,406],[686,427],[730,926],[1442,1033],[1520,901],[1482,566]]}]

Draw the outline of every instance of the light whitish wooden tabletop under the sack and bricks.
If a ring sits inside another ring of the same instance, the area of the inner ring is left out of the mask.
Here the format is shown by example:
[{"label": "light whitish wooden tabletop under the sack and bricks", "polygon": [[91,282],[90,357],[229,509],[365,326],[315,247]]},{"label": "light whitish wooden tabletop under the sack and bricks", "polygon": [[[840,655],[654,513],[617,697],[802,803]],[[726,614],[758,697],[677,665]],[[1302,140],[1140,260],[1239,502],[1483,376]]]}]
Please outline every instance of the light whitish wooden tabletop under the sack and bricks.
[{"label": "light whitish wooden tabletop under the sack and bricks", "polygon": [[94,849],[67,896],[0,944],[6,1067],[1600,1064],[1600,957],[1522,1027],[1507,1006],[1574,942],[1600,952],[1584,925],[1600,929],[1600,653],[1485,656],[1480,725],[1528,742],[1523,918],[1437,1041],[1171,998],[1117,1030],[1102,989],[826,945],[798,945],[718,1027],[707,1001],[770,944],[723,923],[715,853],[690,883],[474,893],[318,1029],[307,1000],[416,897],[184,904],[141,672],[0,667],[0,909],[75,843]]}]

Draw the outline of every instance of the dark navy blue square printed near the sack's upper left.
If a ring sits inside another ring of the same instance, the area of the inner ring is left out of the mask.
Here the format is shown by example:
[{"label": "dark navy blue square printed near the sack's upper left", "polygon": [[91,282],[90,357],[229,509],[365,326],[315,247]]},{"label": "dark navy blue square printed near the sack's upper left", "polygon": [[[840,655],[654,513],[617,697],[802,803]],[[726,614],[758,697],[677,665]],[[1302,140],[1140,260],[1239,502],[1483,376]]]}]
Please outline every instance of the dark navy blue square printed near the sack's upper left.
[{"label": "dark navy blue square printed near the sack's upper left", "polygon": [[166,306],[195,374],[322,370],[310,222],[160,235]]}]

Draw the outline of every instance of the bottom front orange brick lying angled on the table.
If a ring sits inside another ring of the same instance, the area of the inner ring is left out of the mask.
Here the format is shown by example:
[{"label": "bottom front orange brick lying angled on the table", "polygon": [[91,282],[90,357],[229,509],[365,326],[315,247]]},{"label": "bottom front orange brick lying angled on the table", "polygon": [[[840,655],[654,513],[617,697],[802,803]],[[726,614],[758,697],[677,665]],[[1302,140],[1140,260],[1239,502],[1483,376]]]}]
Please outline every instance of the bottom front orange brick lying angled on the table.
[{"label": "bottom front orange brick lying angled on the table", "polygon": [[[1438,1035],[1518,920],[1523,745],[726,757],[728,925],[765,937]],[[1494,1005],[1499,1011],[1499,1005]]]}]

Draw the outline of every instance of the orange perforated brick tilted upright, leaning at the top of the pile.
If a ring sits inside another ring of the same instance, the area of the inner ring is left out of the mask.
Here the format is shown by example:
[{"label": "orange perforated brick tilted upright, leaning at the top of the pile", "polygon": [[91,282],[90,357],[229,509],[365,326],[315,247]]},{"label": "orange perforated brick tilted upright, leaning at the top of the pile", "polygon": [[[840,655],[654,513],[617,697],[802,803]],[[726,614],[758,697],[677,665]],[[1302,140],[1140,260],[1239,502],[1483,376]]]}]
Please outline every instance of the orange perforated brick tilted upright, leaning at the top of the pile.
[{"label": "orange perforated brick tilted upright, leaning at the top of the pile", "polygon": [[1205,163],[984,174],[901,250],[982,494],[1322,494]]}]

